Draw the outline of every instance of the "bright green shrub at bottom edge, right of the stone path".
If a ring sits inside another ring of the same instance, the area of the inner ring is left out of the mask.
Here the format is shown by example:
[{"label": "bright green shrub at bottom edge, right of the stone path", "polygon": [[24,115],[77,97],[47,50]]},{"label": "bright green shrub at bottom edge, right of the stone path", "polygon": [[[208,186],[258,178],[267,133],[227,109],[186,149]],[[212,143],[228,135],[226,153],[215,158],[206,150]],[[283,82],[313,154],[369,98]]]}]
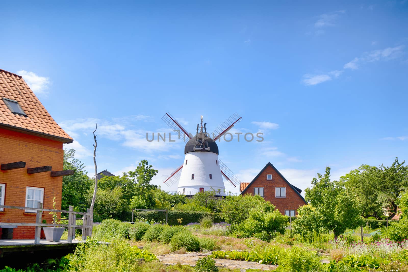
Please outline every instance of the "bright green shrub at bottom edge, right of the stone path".
[{"label": "bright green shrub at bottom edge, right of the stone path", "polygon": [[278,270],[282,272],[319,271],[322,270],[322,263],[316,252],[293,246],[279,255]]}]

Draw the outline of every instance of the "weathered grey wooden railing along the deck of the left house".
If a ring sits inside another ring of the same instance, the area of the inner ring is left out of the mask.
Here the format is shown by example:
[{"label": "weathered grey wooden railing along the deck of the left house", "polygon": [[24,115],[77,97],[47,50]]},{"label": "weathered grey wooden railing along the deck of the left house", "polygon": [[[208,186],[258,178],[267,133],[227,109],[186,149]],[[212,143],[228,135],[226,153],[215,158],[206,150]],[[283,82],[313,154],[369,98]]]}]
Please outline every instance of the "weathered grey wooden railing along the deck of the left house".
[{"label": "weathered grey wooden railing along the deck of the left house", "polygon": [[[42,208],[42,203],[38,203],[38,208],[29,208],[29,207],[18,207],[18,206],[6,206],[0,205],[0,208],[6,209],[18,209],[18,210],[32,210],[36,211],[37,217],[35,223],[6,223],[0,222],[2,226],[34,226],[35,227],[35,237],[34,244],[40,243],[41,227],[65,227],[68,228],[68,243],[72,242],[72,239],[75,239],[75,229],[82,228],[82,240],[85,240],[86,237],[91,237],[92,235],[92,225],[91,225],[91,209],[87,209],[87,212],[74,212],[73,206],[69,206],[69,210],[55,210],[55,209],[44,209]],[[47,224],[42,223],[42,212],[62,212],[68,214],[68,224]],[[76,225],[76,215],[83,215],[82,226]]]}]

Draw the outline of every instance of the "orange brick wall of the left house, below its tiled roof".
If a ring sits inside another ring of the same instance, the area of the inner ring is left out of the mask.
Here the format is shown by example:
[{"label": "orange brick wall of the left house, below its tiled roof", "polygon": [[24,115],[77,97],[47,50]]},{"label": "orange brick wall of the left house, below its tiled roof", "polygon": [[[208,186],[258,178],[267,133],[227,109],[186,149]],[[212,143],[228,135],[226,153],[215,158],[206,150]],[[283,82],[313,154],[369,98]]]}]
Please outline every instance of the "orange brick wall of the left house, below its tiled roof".
[{"label": "orange brick wall of the left house, below its tiled roof", "polygon": [[[25,168],[0,171],[0,183],[6,184],[4,205],[24,207],[26,188],[31,186],[44,188],[44,208],[52,209],[55,197],[56,208],[61,209],[62,177],[50,177],[50,172],[29,175],[27,168],[49,165],[53,171],[62,170],[63,156],[61,142],[0,128],[0,163],[27,163]],[[42,219],[52,221],[48,212],[43,212]],[[0,211],[0,222],[35,223],[35,212],[4,209]],[[34,239],[34,228],[15,228],[13,239]]]}]

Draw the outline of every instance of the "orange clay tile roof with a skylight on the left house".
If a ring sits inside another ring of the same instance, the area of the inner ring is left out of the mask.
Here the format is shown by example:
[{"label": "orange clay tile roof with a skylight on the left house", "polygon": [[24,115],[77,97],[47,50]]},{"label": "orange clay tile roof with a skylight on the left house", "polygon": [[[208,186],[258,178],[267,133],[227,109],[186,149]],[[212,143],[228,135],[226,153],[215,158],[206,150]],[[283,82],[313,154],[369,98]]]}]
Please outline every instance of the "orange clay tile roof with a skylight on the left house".
[{"label": "orange clay tile roof with a skylight on the left house", "polygon": [[[14,114],[2,98],[16,100],[27,115]],[[71,143],[73,139],[54,121],[20,75],[0,69],[0,125],[22,129]]]}]

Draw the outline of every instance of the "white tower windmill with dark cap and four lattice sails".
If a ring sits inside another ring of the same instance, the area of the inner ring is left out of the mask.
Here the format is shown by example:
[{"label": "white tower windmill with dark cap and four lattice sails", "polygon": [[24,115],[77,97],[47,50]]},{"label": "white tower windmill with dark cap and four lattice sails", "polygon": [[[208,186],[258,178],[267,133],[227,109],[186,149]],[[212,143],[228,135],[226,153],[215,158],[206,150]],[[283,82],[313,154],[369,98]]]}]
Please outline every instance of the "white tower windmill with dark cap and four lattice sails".
[{"label": "white tower windmill with dark cap and four lattice sails", "polygon": [[218,158],[216,141],[241,119],[241,116],[234,113],[208,135],[206,123],[203,124],[201,116],[201,123],[197,124],[196,134],[193,136],[170,113],[166,113],[162,120],[179,135],[186,146],[183,164],[166,177],[163,183],[170,187],[178,181],[177,192],[183,195],[194,195],[206,190],[215,190],[217,195],[225,195],[222,177],[237,187],[239,179]]}]

